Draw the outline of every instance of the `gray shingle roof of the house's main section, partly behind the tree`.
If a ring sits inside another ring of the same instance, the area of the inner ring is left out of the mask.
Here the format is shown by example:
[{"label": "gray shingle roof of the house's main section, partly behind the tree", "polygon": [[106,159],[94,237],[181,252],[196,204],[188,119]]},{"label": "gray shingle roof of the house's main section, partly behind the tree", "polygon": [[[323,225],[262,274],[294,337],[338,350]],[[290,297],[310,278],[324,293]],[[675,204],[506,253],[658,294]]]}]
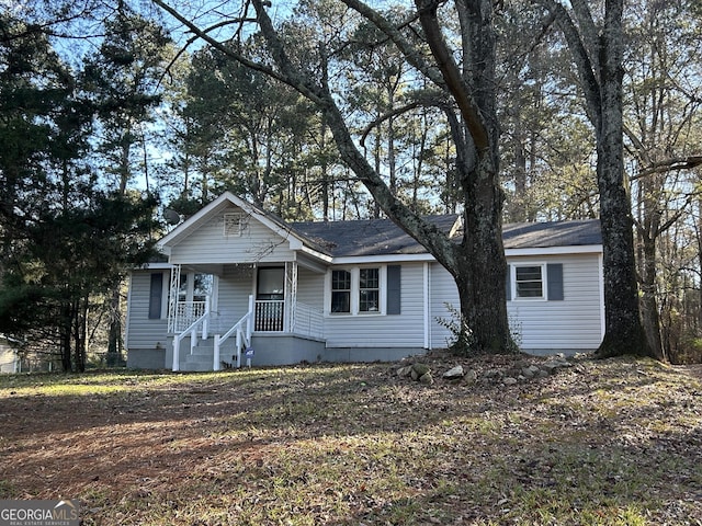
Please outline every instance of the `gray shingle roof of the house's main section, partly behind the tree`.
[{"label": "gray shingle roof of the house's main section, partly behind the tree", "polygon": [[[458,216],[429,216],[449,233]],[[322,252],[335,256],[422,254],[427,250],[389,219],[292,222],[292,228]],[[597,219],[511,224],[502,228],[506,249],[601,244]]]}]

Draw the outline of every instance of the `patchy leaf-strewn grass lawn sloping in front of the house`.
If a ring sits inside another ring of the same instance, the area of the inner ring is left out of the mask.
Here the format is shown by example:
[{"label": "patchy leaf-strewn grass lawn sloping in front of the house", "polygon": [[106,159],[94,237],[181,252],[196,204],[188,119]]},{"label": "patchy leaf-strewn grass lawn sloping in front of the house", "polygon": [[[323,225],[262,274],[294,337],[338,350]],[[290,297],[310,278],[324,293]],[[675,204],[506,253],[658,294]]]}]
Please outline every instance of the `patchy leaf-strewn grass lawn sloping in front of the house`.
[{"label": "patchy leaf-strewn grass lawn sloping in front of the house", "polygon": [[702,524],[700,369],[395,369],[4,376],[0,498],[77,498],[86,525]]}]

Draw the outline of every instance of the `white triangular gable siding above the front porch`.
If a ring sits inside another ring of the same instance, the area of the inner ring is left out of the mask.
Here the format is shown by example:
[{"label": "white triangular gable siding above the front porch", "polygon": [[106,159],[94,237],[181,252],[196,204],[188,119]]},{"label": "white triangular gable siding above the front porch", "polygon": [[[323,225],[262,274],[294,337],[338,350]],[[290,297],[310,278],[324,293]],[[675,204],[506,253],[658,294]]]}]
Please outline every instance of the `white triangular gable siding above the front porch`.
[{"label": "white triangular gable siding above the front porch", "polygon": [[178,264],[280,263],[292,261],[287,240],[256,218],[246,216],[238,236],[225,236],[225,214],[240,213],[228,207],[215,214],[193,235],[172,247],[170,262]]}]

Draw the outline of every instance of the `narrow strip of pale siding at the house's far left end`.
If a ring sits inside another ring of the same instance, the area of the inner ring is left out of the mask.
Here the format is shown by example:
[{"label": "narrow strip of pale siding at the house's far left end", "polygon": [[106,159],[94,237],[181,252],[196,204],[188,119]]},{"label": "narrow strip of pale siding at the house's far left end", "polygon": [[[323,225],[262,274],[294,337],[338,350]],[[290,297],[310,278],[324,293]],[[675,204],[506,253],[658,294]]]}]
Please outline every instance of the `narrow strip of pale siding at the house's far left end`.
[{"label": "narrow strip of pale siding at the house's far left end", "polygon": [[[134,271],[129,278],[129,301],[127,306],[127,348],[166,347],[168,320],[163,316],[149,319],[151,274],[160,271]],[[163,288],[168,288],[169,272],[163,271]],[[167,301],[162,300],[161,305]],[[165,307],[163,307],[165,308]]]}]

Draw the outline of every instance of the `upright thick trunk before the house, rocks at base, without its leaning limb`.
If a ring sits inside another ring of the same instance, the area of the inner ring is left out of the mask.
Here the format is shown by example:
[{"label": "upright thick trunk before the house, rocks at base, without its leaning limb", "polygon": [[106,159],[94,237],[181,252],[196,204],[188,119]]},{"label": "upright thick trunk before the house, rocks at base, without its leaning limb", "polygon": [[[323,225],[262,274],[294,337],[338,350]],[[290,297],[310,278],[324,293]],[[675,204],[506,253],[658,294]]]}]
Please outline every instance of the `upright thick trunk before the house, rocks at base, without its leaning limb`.
[{"label": "upright thick trunk before the house, rocks at base, without its leaning limb", "polygon": [[472,351],[512,352],[517,347],[509,329],[505,288],[505,195],[499,181],[494,3],[491,0],[456,2],[463,38],[462,71],[452,61],[441,34],[438,3],[424,0],[415,0],[415,3],[424,37],[441,70],[445,89],[460,108],[462,122],[458,126],[449,116],[465,203],[463,241],[456,256],[444,259],[440,253],[434,256],[456,282],[461,312],[472,331]]}]

